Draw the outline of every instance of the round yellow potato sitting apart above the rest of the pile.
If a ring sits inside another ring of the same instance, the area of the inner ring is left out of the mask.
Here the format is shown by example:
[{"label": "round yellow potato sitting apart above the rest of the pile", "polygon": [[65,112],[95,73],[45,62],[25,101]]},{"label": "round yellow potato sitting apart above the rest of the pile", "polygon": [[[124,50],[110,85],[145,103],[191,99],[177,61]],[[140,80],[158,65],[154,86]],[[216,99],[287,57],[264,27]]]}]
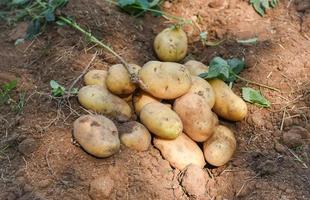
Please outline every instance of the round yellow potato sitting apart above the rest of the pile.
[{"label": "round yellow potato sitting apart above the rest of the pile", "polygon": [[181,28],[166,28],[154,40],[154,50],[161,61],[178,62],[187,53],[187,36]]}]

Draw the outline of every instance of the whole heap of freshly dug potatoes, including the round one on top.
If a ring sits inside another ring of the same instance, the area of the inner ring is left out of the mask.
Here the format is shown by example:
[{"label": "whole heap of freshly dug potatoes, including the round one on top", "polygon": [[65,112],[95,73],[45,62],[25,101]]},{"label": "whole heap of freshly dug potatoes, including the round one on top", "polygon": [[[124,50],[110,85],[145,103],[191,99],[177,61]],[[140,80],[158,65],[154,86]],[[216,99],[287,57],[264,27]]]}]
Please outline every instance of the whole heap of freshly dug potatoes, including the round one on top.
[{"label": "whole heap of freshly dug potatoes, including the round one on top", "polygon": [[[246,103],[222,80],[200,78],[208,72],[203,63],[177,63],[187,52],[182,29],[162,31],[154,49],[161,61],[129,64],[129,69],[117,64],[84,76],[86,86],[78,100],[98,114],[78,118],[74,138],[89,154],[108,157],[118,152],[120,143],[145,151],[153,136],[153,145],[175,168],[203,167],[205,160],[224,165],[236,150],[236,139],[218,117],[240,121],[247,114]],[[131,82],[132,73],[143,85]]]}]

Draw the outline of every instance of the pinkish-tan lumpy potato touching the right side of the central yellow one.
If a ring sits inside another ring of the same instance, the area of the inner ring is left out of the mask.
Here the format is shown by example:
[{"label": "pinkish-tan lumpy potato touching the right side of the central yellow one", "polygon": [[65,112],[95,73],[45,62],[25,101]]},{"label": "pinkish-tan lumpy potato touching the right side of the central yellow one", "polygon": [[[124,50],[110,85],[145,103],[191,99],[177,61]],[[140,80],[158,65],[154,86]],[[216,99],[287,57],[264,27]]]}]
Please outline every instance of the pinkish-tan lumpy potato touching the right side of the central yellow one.
[{"label": "pinkish-tan lumpy potato touching the right side of the central yellow one", "polygon": [[206,141],[218,120],[207,102],[197,94],[185,94],[175,100],[173,110],[182,120],[184,132],[194,141]]}]

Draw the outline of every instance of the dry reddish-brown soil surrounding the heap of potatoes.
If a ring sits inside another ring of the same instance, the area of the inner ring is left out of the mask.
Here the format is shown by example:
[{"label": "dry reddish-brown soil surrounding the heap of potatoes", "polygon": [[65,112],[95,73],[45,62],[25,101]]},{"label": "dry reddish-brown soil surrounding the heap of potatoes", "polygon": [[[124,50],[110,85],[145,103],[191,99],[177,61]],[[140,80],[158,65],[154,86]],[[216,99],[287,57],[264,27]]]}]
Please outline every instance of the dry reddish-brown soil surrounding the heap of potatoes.
[{"label": "dry reddish-brown soil surrounding the heap of potatoes", "polygon": [[[69,87],[96,51],[99,56],[92,64],[94,68],[117,63],[115,58],[92,47],[68,27],[48,27],[33,41],[15,46],[25,24],[9,27],[0,22],[0,83],[19,80],[15,99],[19,92],[26,92],[21,114],[9,106],[0,107],[0,199],[90,199],[100,196],[100,191],[93,194],[98,191],[89,189],[98,177],[108,177],[109,187],[101,192],[109,199],[310,199],[307,2],[281,1],[265,17],[242,0],[164,4],[171,14],[197,19],[200,29],[208,30],[210,40],[226,39],[217,47],[203,47],[198,28],[187,26],[189,57],[205,63],[216,55],[244,57],[247,68],[241,76],[281,90],[261,88],[272,108],[248,104],[246,120],[222,121],[234,130],[238,150],[227,165],[204,169],[206,193],[199,197],[186,191],[180,172],[154,147],[146,152],[122,147],[110,158],[97,159],[72,140],[72,123],[85,111],[76,98],[71,98],[70,104],[49,98],[49,81]],[[167,26],[163,18],[130,17],[101,0],[71,1],[64,13],[91,29],[128,62],[140,65],[156,59],[152,40]],[[236,42],[254,36],[259,38],[255,46]],[[234,90],[238,93],[245,85],[238,81]],[[306,129],[296,131],[296,126]],[[283,137],[284,133],[290,136]]]}]

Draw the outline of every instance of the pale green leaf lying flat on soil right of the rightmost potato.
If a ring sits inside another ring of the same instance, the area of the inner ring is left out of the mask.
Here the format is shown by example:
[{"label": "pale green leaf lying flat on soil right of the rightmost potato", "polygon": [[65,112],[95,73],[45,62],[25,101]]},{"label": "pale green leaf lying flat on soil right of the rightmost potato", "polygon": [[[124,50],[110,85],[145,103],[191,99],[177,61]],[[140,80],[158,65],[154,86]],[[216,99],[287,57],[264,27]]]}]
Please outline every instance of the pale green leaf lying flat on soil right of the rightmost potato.
[{"label": "pale green leaf lying flat on soil right of the rightmost potato", "polygon": [[264,96],[262,96],[260,91],[254,90],[252,88],[243,87],[242,98],[247,102],[257,104],[261,107],[270,107],[270,102]]}]

